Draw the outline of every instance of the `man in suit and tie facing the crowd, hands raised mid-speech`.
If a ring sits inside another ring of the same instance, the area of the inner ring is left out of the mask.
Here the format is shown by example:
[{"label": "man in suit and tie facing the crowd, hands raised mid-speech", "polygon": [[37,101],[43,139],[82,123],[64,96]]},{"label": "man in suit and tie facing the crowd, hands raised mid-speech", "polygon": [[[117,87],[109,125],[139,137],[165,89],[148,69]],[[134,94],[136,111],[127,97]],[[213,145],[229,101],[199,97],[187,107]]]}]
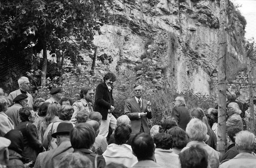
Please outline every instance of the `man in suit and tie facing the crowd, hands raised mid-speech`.
[{"label": "man in suit and tie facing the crowd, hands raised mid-speech", "polygon": [[134,97],[125,102],[124,114],[131,120],[132,133],[145,132],[149,134],[147,118],[152,118],[151,103],[142,99],[143,87],[141,85],[135,85],[133,91]]}]

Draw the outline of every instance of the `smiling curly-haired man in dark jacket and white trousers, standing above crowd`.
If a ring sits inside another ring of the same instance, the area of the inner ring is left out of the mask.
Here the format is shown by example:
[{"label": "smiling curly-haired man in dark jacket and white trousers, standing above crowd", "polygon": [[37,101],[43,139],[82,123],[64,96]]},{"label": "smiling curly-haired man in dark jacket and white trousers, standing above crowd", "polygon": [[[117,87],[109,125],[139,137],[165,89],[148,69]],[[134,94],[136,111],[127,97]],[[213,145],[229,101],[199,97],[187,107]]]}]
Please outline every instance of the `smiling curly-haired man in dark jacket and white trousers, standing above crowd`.
[{"label": "smiling curly-haired man in dark jacket and white trousers, standing above crowd", "polygon": [[96,87],[93,111],[97,111],[101,114],[102,120],[99,134],[103,137],[107,137],[109,126],[114,130],[117,124],[117,119],[113,116],[115,108],[112,96],[112,85],[116,81],[116,75],[108,72],[103,79],[104,82],[101,82]]}]

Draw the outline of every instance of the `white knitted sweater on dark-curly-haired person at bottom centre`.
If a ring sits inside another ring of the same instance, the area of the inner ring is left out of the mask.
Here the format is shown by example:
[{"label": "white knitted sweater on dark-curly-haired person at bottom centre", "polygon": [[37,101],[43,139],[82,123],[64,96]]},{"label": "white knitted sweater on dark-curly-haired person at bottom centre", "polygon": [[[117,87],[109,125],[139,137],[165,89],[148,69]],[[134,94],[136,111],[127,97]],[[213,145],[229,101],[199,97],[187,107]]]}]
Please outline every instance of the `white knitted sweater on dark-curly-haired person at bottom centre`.
[{"label": "white knitted sweater on dark-curly-haired person at bottom centre", "polygon": [[179,168],[179,155],[173,153],[172,149],[155,150],[156,163],[164,168]]}]

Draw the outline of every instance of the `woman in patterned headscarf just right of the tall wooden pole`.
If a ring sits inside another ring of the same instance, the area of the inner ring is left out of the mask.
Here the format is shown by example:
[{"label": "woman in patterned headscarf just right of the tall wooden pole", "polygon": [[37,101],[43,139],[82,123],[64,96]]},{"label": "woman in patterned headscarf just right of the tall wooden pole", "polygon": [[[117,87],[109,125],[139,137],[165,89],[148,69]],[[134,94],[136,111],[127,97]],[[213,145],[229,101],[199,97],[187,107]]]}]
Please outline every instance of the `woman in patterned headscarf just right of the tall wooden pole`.
[{"label": "woman in patterned headscarf just right of the tall wooden pole", "polygon": [[227,113],[229,115],[229,118],[226,122],[226,128],[227,130],[231,127],[238,127],[243,130],[243,121],[241,116],[239,115],[242,113],[242,111],[239,109],[239,106],[237,103],[229,103],[227,107]]}]

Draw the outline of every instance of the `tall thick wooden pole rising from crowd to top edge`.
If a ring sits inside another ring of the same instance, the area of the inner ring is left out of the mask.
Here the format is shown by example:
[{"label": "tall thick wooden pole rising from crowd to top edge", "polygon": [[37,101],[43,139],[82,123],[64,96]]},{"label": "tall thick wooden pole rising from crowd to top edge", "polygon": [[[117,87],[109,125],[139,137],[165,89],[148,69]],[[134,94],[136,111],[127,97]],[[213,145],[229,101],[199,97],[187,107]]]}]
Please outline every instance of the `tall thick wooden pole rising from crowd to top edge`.
[{"label": "tall thick wooden pole rising from crowd to top edge", "polygon": [[218,57],[218,135],[217,151],[225,153],[226,142],[226,55],[227,55],[227,0],[221,0],[219,24],[219,57]]}]

